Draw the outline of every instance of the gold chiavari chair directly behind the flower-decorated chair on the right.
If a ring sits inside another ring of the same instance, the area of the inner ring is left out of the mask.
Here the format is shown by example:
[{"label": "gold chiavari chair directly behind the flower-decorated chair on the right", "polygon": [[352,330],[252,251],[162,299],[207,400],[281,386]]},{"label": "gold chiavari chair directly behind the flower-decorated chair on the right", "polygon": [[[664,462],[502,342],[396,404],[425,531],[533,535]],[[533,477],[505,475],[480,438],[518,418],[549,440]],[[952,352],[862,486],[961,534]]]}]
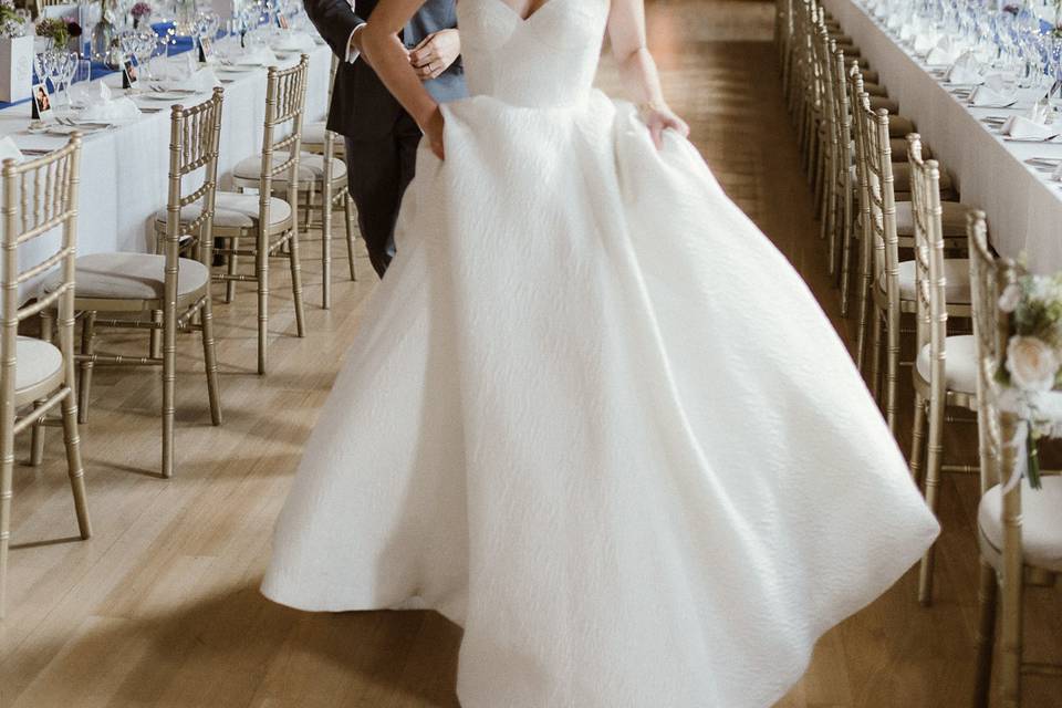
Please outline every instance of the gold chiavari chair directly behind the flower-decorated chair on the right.
[{"label": "gold chiavari chair directly behind the flower-decorated chair on the right", "polygon": [[[972,316],[968,303],[948,303],[949,277],[956,271],[969,278],[967,259],[945,259],[944,209],[940,201],[940,169],[925,160],[917,134],[907,137],[912,169],[912,205],[915,226],[915,416],[912,428],[910,473],[918,482],[925,455],[926,504],[937,512],[941,472],[978,471],[970,465],[944,465],[944,427],[948,408],[977,412],[977,347],[968,334],[948,335],[948,316]],[[926,421],[928,418],[928,439]],[[934,548],[922,559],[918,602],[933,601]]]}]

